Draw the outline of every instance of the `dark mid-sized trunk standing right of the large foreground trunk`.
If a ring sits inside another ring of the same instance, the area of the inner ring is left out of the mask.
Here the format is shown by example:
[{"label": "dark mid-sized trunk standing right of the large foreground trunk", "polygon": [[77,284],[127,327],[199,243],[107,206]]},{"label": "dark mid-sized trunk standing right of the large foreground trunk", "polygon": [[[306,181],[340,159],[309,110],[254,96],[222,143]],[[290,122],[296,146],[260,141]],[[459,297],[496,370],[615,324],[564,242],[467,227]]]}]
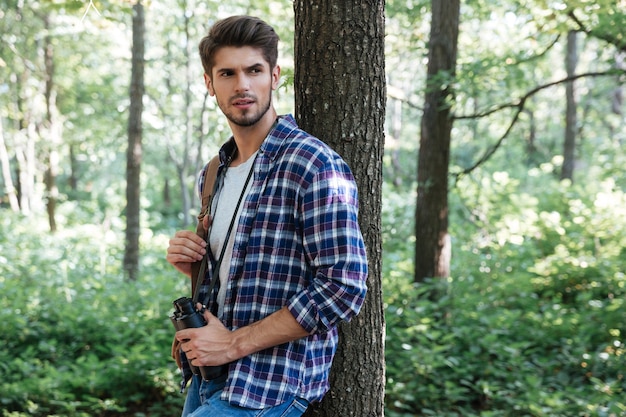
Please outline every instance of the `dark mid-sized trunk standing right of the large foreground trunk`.
[{"label": "dark mid-sized trunk standing right of the large foreground trunk", "polygon": [[426,98],[422,115],[415,214],[415,281],[450,275],[448,168],[459,0],[432,0]]}]

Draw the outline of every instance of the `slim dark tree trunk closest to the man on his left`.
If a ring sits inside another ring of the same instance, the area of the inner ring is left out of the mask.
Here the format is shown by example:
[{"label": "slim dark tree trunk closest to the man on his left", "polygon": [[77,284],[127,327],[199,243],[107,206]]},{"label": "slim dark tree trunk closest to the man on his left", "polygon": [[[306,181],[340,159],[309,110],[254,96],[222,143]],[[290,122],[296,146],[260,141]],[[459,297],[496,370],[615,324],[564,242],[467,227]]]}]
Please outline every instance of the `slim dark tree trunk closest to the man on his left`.
[{"label": "slim dark tree trunk closest to the man on his left", "polygon": [[126,153],[126,250],[124,272],[131,281],[139,274],[140,174],[144,95],[144,9],[141,0],[133,6],[133,49]]}]

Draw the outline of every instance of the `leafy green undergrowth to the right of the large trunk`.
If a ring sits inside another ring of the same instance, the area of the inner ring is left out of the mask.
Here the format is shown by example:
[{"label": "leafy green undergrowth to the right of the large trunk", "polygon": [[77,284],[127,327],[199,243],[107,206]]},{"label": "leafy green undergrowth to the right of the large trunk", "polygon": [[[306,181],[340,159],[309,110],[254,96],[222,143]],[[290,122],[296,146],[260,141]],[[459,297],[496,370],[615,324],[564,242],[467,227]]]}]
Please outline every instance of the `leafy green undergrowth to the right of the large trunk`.
[{"label": "leafy green undergrowth to the right of the large trunk", "polygon": [[458,185],[449,280],[411,284],[385,240],[386,415],[626,413],[625,195],[550,171]]}]

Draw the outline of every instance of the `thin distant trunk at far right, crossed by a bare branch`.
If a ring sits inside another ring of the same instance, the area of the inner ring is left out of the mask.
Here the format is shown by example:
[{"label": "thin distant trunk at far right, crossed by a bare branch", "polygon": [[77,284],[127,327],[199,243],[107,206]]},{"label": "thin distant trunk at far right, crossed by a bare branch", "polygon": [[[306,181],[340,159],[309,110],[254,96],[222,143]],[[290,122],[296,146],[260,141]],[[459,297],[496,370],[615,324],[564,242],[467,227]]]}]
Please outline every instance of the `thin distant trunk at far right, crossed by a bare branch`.
[{"label": "thin distant trunk at far right, crossed by a bare branch", "polygon": [[[567,76],[571,77],[576,73],[578,63],[578,53],[576,47],[576,31],[570,30],[567,33],[567,57],[565,67]],[[574,162],[576,150],[576,97],[574,95],[574,81],[565,83],[565,140],[563,141],[563,167],[561,168],[561,179],[574,181]]]}]

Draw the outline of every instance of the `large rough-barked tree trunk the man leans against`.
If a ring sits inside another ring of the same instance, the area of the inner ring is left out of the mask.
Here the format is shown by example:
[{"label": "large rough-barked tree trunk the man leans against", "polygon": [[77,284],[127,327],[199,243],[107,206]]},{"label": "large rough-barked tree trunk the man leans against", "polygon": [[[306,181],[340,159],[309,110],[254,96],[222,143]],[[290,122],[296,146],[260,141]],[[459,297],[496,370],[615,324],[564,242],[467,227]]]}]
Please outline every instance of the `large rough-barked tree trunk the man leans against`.
[{"label": "large rough-barked tree trunk the man leans against", "polygon": [[331,389],[307,416],[384,414],[381,194],[385,121],[384,1],[296,0],[296,118],[352,168],[368,249],[368,294],[340,326]]}]

